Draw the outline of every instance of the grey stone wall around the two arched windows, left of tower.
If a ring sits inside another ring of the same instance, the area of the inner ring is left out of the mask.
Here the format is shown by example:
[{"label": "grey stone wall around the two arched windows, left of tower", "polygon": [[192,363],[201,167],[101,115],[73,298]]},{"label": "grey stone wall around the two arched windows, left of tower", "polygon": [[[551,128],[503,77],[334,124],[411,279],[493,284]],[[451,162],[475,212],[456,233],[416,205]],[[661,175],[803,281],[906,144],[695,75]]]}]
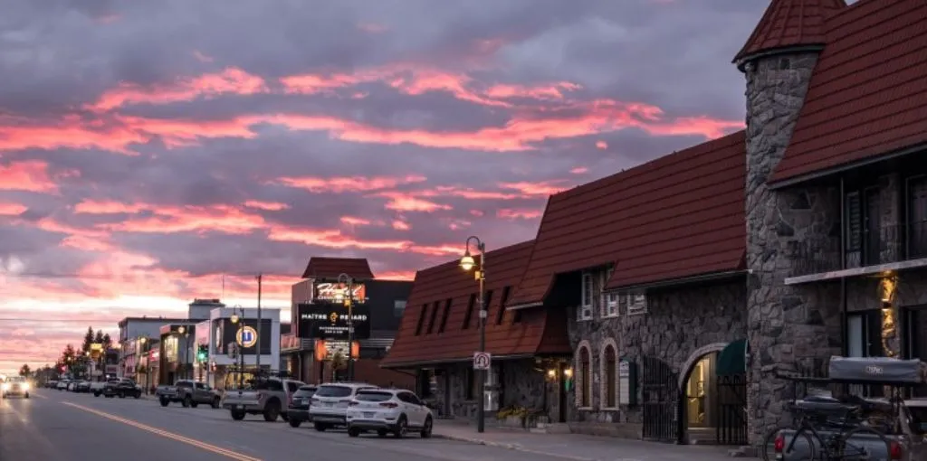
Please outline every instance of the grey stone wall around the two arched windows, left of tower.
[{"label": "grey stone wall around the two arched windows, left of tower", "polygon": [[[588,423],[588,430],[583,430],[582,425],[571,424],[575,430],[594,432],[603,423],[622,423],[628,426],[625,433],[640,436],[641,405],[603,408],[602,352],[605,344],[614,341],[618,357],[628,357],[639,364],[643,356],[659,358],[683,374],[690,371],[682,368],[694,362],[693,355],[699,348],[730,343],[746,336],[743,280],[647,293],[647,313],[643,315],[628,316],[622,309],[618,317],[603,318],[600,300],[601,296],[597,297],[592,320],[578,321],[574,313],[568,323],[574,350],[586,342],[591,349],[591,407],[579,409],[576,405],[576,388],[582,385],[581,377],[577,376],[577,385],[569,392],[569,401],[574,405],[569,409],[568,419]],[[576,363],[574,369],[578,375]],[[639,381],[641,371],[639,366]],[[641,403],[640,385],[637,401]]]}]

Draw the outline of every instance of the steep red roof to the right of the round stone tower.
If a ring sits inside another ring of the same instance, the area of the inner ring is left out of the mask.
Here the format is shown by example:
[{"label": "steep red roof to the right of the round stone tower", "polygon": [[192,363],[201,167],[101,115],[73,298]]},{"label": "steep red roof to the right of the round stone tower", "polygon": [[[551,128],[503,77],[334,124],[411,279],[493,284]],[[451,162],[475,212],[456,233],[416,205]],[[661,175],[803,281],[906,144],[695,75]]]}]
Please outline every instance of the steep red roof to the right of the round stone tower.
[{"label": "steep red roof to the right of the round stone tower", "polygon": [[860,0],[827,26],[828,44],[770,181],[927,143],[927,2]]}]

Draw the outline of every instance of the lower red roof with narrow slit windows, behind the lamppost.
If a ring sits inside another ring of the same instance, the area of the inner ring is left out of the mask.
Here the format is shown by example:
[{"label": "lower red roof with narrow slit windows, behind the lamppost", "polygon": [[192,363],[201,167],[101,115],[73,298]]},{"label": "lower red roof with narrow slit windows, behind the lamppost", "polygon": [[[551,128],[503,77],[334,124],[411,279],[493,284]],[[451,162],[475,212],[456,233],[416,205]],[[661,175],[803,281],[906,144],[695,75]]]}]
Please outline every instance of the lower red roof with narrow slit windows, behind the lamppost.
[{"label": "lower red roof with narrow slit windows, behind the lamppost", "polygon": [[[528,255],[534,241],[506,246],[487,255],[487,293],[489,317],[486,324],[486,350],[495,356],[570,354],[566,333],[566,318],[563,309],[532,309],[523,313],[505,311],[502,296],[505,287],[511,287],[520,280],[525,270]],[[456,260],[419,270],[415,274],[412,294],[402,316],[400,330],[380,366],[398,368],[401,366],[425,365],[468,360],[479,347],[479,306],[471,311],[469,328],[464,329],[471,296],[477,292],[473,275],[464,272]],[[440,330],[445,305],[451,300],[445,329]],[[438,309],[435,309],[435,305]],[[428,332],[428,325],[434,312],[434,326]],[[498,323],[502,314],[502,322]],[[420,334],[420,318],[422,328]],[[516,316],[518,321],[515,321]]]}]

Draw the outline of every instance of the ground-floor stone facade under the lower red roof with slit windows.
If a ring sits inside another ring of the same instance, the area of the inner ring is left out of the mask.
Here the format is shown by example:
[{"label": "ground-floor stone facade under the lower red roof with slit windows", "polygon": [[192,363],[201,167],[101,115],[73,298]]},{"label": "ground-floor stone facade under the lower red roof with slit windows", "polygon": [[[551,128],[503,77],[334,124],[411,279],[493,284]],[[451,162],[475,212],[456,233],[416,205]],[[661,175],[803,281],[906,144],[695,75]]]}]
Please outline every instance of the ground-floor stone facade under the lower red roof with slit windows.
[{"label": "ground-floor stone facade under the lower red roof with slit windows", "polygon": [[[493,364],[493,373],[499,377],[498,386],[487,386],[499,391],[499,408],[521,406],[527,409],[543,409],[547,405],[546,382],[542,370],[536,369],[534,359],[500,360]],[[442,417],[476,417],[479,396],[476,386],[468,392],[473,366],[470,362],[442,368],[438,376],[438,388],[432,396]],[[494,417],[487,412],[487,420]]]}]

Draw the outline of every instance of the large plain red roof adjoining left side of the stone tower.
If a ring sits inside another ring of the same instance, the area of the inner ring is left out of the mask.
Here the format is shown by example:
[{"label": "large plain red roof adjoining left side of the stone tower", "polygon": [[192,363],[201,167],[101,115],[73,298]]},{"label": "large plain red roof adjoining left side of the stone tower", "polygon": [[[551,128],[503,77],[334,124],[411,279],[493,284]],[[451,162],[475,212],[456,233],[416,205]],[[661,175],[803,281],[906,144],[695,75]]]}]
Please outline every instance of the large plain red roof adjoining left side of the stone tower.
[{"label": "large plain red roof adjoining left side of the stone tower", "polygon": [[509,305],[540,303],[556,274],[615,264],[609,288],[741,268],[743,131],[553,195]]}]

